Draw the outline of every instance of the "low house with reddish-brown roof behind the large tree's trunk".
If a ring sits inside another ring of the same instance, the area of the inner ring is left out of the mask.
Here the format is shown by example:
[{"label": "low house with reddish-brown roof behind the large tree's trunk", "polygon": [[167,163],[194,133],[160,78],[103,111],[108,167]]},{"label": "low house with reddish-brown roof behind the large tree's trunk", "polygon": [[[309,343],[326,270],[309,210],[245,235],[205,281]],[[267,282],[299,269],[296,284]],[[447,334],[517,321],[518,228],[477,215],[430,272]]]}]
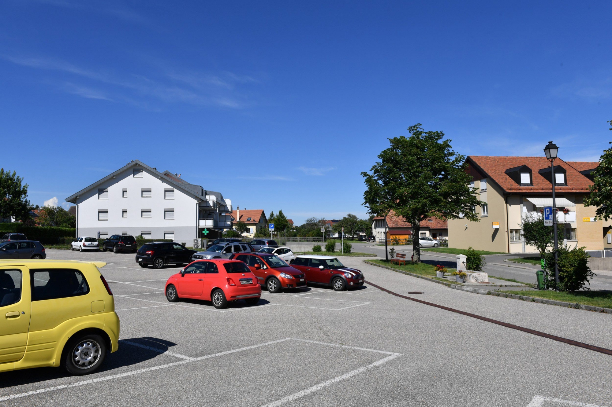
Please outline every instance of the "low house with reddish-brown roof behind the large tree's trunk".
[{"label": "low house with reddish-brown roof behind the large tree's trunk", "polygon": [[[447,221],[438,218],[427,218],[419,222],[420,237],[431,237],[433,239],[446,239],[448,237]],[[390,211],[387,216],[376,216],[372,219],[372,235],[376,240],[384,239],[408,239],[412,237],[412,224],[401,216]]]}]

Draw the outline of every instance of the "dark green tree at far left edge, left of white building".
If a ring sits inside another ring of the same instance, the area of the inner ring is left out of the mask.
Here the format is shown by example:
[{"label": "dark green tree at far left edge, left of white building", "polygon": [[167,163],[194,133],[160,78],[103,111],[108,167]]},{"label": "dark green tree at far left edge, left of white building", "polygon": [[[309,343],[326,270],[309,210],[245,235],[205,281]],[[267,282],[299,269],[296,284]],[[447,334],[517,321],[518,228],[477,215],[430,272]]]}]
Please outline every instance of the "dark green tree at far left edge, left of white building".
[{"label": "dark green tree at far left edge, left of white building", "polygon": [[28,184],[23,184],[23,178],[15,171],[11,173],[0,168],[0,218],[28,219],[30,202],[27,196]]}]

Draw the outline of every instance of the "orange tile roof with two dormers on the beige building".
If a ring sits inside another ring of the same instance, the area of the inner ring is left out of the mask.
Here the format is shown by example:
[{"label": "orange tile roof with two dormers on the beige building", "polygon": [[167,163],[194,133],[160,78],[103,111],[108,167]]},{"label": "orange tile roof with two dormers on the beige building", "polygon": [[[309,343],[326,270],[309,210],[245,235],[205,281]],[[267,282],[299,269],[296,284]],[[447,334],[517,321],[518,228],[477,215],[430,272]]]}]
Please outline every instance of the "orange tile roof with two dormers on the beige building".
[{"label": "orange tile roof with two dormers on the beige building", "polygon": [[[477,172],[484,177],[491,178],[506,193],[551,193],[552,185],[538,173],[540,169],[550,167],[550,161],[545,157],[503,157],[503,156],[475,156],[470,155],[466,158],[469,165],[474,167]],[[526,165],[531,169],[533,186],[518,185],[506,170]],[[567,186],[555,186],[554,190],[558,194],[562,193],[588,193],[589,185],[592,184],[589,178],[565,161],[558,158],[554,161],[554,166],[561,166],[567,173]],[[477,174],[471,172],[477,178]]]}]

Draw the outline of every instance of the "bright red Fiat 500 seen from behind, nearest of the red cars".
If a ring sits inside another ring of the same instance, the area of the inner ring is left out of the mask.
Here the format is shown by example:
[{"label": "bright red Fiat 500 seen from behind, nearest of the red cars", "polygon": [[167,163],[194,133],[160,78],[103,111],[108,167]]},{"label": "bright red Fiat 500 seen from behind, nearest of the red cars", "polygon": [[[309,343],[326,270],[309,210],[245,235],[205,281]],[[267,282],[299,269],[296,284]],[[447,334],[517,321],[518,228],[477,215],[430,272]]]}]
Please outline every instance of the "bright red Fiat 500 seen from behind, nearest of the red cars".
[{"label": "bright red Fiat 500 seen from behind, nearest of the red cars", "polygon": [[215,308],[225,308],[229,301],[244,299],[255,305],[261,286],[248,267],[237,260],[198,260],[166,281],[166,298],[176,303],[180,298],[212,301]]}]

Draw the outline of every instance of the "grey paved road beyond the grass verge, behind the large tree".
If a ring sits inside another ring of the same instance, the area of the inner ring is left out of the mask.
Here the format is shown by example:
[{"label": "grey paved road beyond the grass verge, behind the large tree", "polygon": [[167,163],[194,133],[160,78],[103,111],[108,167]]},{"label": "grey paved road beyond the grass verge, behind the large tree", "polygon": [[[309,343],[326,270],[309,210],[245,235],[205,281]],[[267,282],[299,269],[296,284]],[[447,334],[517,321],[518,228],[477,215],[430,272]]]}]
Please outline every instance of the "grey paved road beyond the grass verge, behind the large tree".
[{"label": "grey paved road beyond the grass verge, behind the large tree", "polygon": [[[359,250],[360,252],[375,253],[378,257],[384,258],[384,246],[371,246],[367,244],[360,244],[353,248],[354,251]],[[397,246],[396,251],[412,255],[411,246]],[[529,264],[516,264],[504,262],[506,259],[512,257],[528,257],[526,254],[495,254],[485,256],[487,266],[483,271],[489,274],[491,277],[502,277],[505,279],[515,279],[517,281],[536,284],[535,271],[540,270],[539,267]],[[455,255],[446,253],[433,253],[433,252],[421,252],[421,258],[424,262],[435,263],[447,266],[448,268],[455,269],[457,262]],[[591,281],[589,287],[592,290],[612,290],[612,272],[610,271],[599,271],[595,270],[596,277]]]}]

